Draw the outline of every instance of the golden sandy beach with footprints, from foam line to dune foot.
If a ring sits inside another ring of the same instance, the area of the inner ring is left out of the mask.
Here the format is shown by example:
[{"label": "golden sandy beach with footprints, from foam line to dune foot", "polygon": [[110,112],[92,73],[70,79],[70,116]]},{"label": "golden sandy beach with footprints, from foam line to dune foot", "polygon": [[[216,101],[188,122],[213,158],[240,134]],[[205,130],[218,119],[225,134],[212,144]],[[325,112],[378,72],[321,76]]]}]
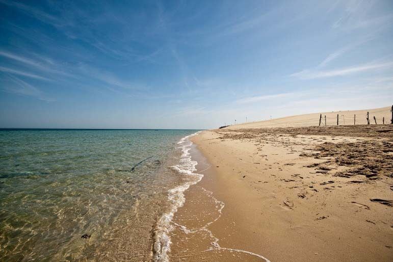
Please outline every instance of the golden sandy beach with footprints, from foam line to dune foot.
[{"label": "golden sandy beach with footprints, from foam line to dune foot", "polygon": [[205,176],[175,214],[171,260],[393,260],[393,125],[224,128],[192,141]]}]

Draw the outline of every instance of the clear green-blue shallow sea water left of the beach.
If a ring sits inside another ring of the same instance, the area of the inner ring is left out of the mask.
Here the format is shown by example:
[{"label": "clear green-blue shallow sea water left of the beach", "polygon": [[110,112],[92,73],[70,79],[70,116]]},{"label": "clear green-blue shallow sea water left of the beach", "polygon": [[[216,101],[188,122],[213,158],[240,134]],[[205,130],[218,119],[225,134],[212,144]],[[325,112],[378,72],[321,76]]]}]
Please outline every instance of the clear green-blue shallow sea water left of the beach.
[{"label": "clear green-blue shallow sea water left of the beach", "polygon": [[160,258],[195,132],[1,130],[0,260]]}]

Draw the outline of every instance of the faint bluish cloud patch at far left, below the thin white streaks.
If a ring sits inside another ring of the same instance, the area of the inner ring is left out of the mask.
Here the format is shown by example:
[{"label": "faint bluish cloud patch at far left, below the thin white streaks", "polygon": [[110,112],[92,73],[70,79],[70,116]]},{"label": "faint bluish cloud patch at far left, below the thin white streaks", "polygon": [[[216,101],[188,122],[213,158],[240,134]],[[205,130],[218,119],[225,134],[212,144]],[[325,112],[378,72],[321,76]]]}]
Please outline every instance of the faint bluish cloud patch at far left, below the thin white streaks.
[{"label": "faint bluish cloud patch at far left, below the thin white streaks", "polygon": [[8,77],[14,84],[16,84],[16,86],[7,85],[2,89],[4,92],[14,93],[22,96],[31,96],[47,102],[55,101],[55,99],[46,97],[41,90],[30,85],[29,83],[24,82],[18,77],[12,75],[8,75]]}]

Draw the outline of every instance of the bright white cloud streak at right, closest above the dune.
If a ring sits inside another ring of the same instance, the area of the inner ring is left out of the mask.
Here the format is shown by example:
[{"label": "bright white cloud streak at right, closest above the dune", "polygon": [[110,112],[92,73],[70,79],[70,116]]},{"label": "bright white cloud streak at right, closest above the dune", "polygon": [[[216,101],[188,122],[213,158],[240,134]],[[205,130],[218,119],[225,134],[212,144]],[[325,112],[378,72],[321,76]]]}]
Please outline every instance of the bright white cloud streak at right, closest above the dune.
[{"label": "bright white cloud streak at right, closest above the dune", "polygon": [[314,79],[314,78],[343,76],[343,75],[354,74],[364,71],[371,71],[375,69],[388,68],[392,66],[393,66],[393,62],[384,62],[384,63],[374,63],[374,64],[363,64],[359,66],[346,67],[336,70],[324,70],[324,71],[302,70],[300,72],[291,74],[291,76],[297,77],[302,80],[307,80],[307,79]]}]

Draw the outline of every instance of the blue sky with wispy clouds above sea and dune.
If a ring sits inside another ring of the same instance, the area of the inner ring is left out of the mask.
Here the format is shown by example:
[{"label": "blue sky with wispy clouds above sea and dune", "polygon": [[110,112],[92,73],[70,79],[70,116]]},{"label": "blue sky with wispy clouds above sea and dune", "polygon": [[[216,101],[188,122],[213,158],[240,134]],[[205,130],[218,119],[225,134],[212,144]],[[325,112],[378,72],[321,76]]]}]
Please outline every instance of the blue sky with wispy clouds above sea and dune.
[{"label": "blue sky with wispy clouds above sea and dune", "polygon": [[205,129],[392,102],[391,0],[0,0],[0,127]]}]

